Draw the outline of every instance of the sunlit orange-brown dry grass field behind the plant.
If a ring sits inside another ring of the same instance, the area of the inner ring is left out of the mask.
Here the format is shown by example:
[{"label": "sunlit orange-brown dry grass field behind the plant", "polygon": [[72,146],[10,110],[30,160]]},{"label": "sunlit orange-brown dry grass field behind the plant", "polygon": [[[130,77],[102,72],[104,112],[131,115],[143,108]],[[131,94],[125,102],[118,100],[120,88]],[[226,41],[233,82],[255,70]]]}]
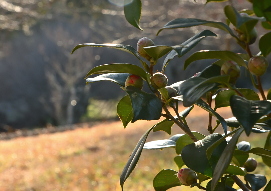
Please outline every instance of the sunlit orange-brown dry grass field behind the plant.
[{"label": "sunlit orange-brown dry grass field behind the plant", "polygon": [[[231,117],[230,108],[217,112],[224,118]],[[207,116],[207,112],[195,106],[187,118],[189,127],[208,135]],[[91,128],[85,123],[83,128],[66,132],[1,140],[0,191],[119,191],[119,176],[134,146],[156,122],[140,120],[129,124],[126,129],[121,121],[101,122]],[[217,132],[222,133],[221,126]],[[172,135],[178,133],[183,132],[173,126]],[[162,131],[152,132],[147,142],[170,136]],[[266,133],[254,134],[252,146],[263,146],[266,136]],[[152,180],[160,170],[179,170],[173,161],[174,156],[174,149],[143,150],[134,172],[124,183],[124,189],[154,190]],[[257,156],[252,157],[261,161]],[[269,181],[270,172],[260,165],[255,173],[266,174]],[[198,189],[182,186],[170,190]]]}]

